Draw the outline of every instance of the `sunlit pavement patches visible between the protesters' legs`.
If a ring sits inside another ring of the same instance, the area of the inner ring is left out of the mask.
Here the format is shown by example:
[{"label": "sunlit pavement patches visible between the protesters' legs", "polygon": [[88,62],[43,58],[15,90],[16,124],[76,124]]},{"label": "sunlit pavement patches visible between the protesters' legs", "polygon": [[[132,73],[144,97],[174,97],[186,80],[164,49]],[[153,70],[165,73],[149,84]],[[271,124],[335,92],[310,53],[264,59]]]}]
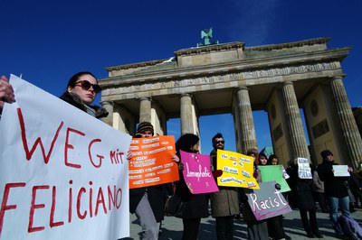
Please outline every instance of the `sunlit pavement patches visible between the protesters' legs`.
[{"label": "sunlit pavement patches visible between the protesters' legs", "polygon": [[[360,226],[362,226],[362,209],[352,213]],[[319,231],[324,235],[324,239],[337,239],[334,237],[334,230],[329,221],[329,214],[322,213],[317,210],[317,218],[319,220]],[[284,230],[291,239],[310,239],[304,232],[300,221],[300,212],[294,209],[291,213],[284,215]],[[162,221],[162,234],[159,235],[160,240],[179,240],[182,236],[182,219],[176,217],[165,217]],[[135,215],[130,215],[130,237],[127,239],[139,239],[138,233],[141,227]],[[198,234],[200,240],[216,240],[215,221],[213,217],[203,218],[201,220],[200,231]],[[247,239],[246,224],[243,220],[235,219],[234,221],[234,237],[233,239]]]}]

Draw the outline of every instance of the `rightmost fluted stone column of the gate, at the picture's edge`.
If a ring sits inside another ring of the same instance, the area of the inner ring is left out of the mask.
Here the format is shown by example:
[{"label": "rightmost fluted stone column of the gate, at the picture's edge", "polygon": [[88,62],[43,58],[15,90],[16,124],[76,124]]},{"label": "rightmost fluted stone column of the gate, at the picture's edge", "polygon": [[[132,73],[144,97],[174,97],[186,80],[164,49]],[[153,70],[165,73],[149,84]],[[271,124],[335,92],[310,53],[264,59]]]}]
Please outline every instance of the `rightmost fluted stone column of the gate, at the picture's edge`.
[{"label": "rightmost fluted stone column of the gate, at the picture's edge", "polygon": [[[333,78],[330,81],[332,97],[337,108],[339,123],[342,128],[345,146],[349,154],[349,160],[353,168],[357,168],[358,162],[362,160],[362,140],[358,132],[355,117],[348,101],[346,89],[342,77]],[[344,162],[345,164],[349,162]]]}]

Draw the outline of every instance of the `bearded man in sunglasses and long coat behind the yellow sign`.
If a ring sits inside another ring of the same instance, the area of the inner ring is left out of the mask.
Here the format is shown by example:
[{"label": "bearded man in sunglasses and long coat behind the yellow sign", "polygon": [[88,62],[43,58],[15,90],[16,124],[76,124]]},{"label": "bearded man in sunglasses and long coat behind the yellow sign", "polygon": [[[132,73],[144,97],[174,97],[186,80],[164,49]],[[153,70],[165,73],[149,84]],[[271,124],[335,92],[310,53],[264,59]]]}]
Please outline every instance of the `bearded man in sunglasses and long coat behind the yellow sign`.
[{"label": "bearded man in sunglasses and long coat behind the yellow sign", "polygon": [[[220,177],[223,173],[217,170],[217,150],[224,150],[223,134],[215,134],[212,141],[213,151],[210,152],[210,160],[214,177]],[[217,181],[216,181],[217,182]],[[232,187],[218,186],[219,191],[211,193],[211,215],[216,220],[217,239],[233,239],[233,218],[240,214],[238,190]]]}]

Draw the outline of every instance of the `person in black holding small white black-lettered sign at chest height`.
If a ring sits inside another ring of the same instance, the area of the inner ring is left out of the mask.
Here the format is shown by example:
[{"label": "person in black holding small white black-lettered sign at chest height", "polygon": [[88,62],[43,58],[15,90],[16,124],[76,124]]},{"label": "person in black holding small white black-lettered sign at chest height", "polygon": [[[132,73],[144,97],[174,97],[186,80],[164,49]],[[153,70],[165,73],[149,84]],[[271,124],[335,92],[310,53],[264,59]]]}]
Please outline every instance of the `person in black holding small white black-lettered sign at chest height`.
[{"label": "person in black holding small white black-lettered sign at chest height", "polygon": [[[313,176],[313,167],[310,164],[311,176]],[[317,207],[313,197],[313,180],[300,179],[298,174],[298,160],[294,161],[294,167],[290,172],[291,179],[296,184],[298,208],[300,208],[300,219],[307,236],[314,238],[322,238],[323,235],[319,233],[319,226],[317,221]],[[310,217],[308,217],[308,213]]]}]

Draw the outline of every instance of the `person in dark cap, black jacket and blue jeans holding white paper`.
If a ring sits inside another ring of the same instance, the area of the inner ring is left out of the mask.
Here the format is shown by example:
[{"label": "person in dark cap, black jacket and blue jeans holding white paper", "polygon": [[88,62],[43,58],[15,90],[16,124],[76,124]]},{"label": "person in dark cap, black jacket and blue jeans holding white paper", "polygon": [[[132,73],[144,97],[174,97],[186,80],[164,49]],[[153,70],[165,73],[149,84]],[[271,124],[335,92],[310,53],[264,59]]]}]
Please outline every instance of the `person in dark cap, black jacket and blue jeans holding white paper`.
[{"label": "person in dark cap, black jacket and blue jeans holding white paper", "polygon": [[[320,156],[323,162],[318,165],[317,171],[319,179],[324,181],[324,194],[329,204],[329,219],[337,237],[346,239],[347,236],[343,234],[342,227],[338,222],[338,207],[342,215],[350,216],[348,187],[346,185],[349,177],[334,176],[333,165],[338,165],[338,163],[334,162],[333,153],[328,149],[320,152]],[[348,168],[348,171],[351,171],[351,168]]]}]

